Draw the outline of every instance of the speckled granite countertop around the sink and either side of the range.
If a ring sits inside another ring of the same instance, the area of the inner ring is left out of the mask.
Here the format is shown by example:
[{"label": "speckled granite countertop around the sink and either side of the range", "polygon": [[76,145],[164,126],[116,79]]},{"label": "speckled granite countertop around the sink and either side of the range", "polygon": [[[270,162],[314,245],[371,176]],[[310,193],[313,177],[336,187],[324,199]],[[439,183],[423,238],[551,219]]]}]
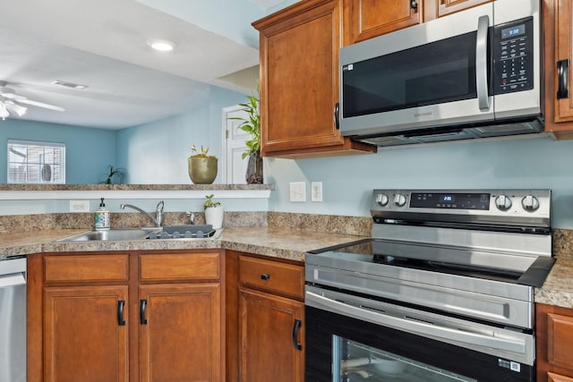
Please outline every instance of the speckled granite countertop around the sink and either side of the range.
[{"label": "speckled granite countertop around the sink and either side of the range", "polygon": [[[86,229],[0,233],[0,259],[39,252],[101,250],[239,250],[278,259],[304,261],[304,253],[367,236],[324,233],[291,228],[227,227],[217,239],[168,239],[131,242],[56,242]],[[543,287],[535,288],[535,302],[573,308],[573,257],[556,257]]]}]

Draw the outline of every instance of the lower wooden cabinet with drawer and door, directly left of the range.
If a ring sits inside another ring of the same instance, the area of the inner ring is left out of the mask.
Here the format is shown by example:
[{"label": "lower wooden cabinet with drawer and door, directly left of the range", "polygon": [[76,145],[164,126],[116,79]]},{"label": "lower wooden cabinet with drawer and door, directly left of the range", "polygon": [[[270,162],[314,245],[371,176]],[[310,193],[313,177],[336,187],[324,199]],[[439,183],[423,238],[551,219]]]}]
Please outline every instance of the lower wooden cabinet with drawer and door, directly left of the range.
[{"label": "lower wooden cabinet with drawer and door, directly left of the range", "polygon": [[239,381],[304,381],[304,267],[239,257]]}]

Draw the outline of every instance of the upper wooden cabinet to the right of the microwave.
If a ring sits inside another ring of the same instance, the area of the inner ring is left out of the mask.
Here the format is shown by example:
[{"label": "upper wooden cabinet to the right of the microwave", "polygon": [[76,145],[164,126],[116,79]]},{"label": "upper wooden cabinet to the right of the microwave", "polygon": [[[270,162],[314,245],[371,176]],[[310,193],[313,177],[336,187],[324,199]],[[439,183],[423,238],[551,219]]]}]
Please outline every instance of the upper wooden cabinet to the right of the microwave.
[{"label": "upper wooden cabinet to the right of the microwave", "polygon": [[[573,138],[573,6],[571,0],[543,1],[545,131]],[[558,69],[559,68],[559,69]],[[558,94],[559,93],[559,94]]]}]

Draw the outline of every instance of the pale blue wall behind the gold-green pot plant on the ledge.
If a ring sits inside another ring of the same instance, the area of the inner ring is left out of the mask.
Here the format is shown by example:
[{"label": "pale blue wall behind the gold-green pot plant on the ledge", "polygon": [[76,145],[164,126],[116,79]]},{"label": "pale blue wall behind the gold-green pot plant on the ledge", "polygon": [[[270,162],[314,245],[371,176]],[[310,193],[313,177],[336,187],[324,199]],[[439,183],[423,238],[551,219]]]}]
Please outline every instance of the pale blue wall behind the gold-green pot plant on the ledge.
[{"label": "pale blue wall behind the gold-green pot plant on the ledge", "polygon": [[[191,183],[187,157],[192,145],[209,146],[220,158],[222,108],[244,102],[243,93],[211,86],[201,105],[187,113],[117,132],[117,163],[127,169],[129,183]],[[219,168],[222,164],[219,164]],[[218,174],[215,183],[221,183]]]}]

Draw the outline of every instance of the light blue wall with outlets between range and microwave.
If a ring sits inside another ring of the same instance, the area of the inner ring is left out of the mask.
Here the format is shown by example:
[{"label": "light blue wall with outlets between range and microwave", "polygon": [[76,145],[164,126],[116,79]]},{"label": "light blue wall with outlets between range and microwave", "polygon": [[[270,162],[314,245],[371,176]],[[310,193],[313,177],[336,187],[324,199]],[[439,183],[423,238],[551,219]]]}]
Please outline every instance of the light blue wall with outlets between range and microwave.
[{"label": "light blue wall with outlets between range and microwave", "polygon": [[[270,209],[370,216],[375,188],[517,188],[552,190],[552,225],[573,229],[573,140],[551,138],[464,141],[380,149],[375,155],[265,159],[265,182],[275,183]],[[289,201],[289,183],[307,182],[306,202]],[[310,201],[322,182],[323,202]]]}]

